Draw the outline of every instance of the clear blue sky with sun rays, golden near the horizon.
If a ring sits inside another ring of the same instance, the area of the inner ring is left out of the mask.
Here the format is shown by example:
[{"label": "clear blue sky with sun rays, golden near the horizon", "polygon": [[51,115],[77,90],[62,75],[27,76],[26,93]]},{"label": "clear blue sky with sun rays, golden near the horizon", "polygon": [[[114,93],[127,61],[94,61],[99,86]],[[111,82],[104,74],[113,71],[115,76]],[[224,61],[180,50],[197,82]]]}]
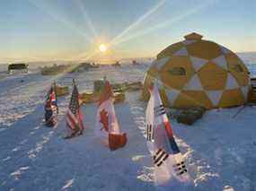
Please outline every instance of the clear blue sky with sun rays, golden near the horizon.
[{"label": "clear blue sky with sun rays, golden near the horizon", "polygon": [[2,0],[0,63],[156,56],[193,31],[256,51],[255,10],[256,0]]}]

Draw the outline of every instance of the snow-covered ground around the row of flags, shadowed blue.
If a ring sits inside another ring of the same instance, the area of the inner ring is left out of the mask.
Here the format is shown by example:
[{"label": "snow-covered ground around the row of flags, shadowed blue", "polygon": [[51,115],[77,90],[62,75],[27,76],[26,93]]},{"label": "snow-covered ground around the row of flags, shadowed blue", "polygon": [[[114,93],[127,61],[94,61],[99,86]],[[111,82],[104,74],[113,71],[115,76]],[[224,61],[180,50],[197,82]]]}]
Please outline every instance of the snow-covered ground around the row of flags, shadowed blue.
[{"label": "snow-covered ground around the row of flags, shadowed blue", "polygon": [[[74,77],[79,91],[86,91],[103,75],[110,82],[142,81],[147,66],[104,66],[60,76],[57,82],[70,84]],[[254,74],[253,64],[250,69]],[[0,190],[159,190],[146,147],[146,103],[138,100],[139,92],[127,92],[126,101],[115,105],[128,144],[110,152],[93,134],[95,104],[83,106],[86,129],[80,137],[62,138],[69,97],[58,100],[57,127],[43,126],[43,99],[51,80],[37,70],[0,77]],[[172,120],[189,163],[190,190],[256,190],[256,108],[246,107],[234,117],[239,109],[207,111],[193,126]]]}]

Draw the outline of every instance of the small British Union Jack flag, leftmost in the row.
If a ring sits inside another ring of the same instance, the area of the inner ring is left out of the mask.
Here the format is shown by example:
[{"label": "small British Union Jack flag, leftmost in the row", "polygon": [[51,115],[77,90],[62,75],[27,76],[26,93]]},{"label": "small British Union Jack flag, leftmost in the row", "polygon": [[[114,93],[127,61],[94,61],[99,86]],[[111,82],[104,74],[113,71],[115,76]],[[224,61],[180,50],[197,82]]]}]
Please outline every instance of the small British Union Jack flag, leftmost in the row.
[{"label": "small British Union Jack flag, leftmost in the row", "polygon": [[55,126],[57,124],[57,96],[53,86],[50,87],[45,100],[45,124]]}]

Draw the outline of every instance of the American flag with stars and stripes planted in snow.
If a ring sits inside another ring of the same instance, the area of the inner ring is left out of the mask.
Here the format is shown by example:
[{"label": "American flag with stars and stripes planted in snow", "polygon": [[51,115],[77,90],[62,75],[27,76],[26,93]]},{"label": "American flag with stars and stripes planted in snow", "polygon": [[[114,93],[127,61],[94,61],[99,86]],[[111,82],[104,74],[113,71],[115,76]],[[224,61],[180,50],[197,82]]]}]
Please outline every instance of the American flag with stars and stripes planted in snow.
[{"label": "American flag with stars and stripes planted in snow", "polygon": [[79,92],[75,82],[73,82],[73,91],[66,111],[66,126],[71,130],[71,134],[65,138],[72,138],[75,135],[82,135],[84,131],[83,113],[79,104]]}]

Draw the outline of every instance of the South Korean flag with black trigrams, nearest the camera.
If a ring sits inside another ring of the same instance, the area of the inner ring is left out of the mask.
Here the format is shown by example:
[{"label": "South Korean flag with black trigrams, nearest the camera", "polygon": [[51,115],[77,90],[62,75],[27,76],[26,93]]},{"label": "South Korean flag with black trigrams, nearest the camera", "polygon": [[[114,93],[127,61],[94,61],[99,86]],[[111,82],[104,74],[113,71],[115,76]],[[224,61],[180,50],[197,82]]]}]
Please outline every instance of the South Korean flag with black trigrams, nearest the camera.
[{"label": "South Korean flag with black trigrams, nearest the camera", "polygon": [[186,185],[190,183],[190,176],[173,137],[158,88],[153,85],[149,91],[151,97],[146,108],[146,139],[154,161],[154,182],[162,186]]}]

